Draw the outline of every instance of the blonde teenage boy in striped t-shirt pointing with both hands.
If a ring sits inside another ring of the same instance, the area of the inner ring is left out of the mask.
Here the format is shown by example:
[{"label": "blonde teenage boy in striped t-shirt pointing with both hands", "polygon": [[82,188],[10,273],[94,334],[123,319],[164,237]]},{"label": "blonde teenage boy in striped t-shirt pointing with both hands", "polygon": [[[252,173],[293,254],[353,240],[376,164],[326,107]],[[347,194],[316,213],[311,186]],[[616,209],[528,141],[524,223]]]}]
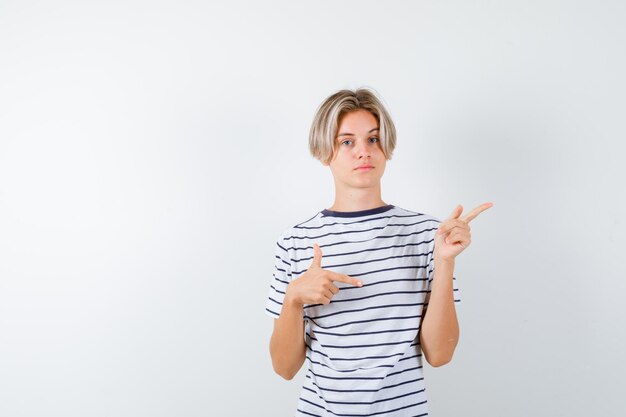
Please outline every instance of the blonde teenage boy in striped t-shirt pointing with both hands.
[{"label": "blonde teenage boy in striped t-shirt pointing with both hands", "polygon": [[330,167],[335,202],[282,233],[266,312],[274,370],[308,360],[298,416],[425,416],[422,355],[452,359],[459,337],[455,257],[470,244],[457,206],[444,222],[387,204],[381,177],[395,127],[369,90],[342,90],[317,110],[309,147]]}]

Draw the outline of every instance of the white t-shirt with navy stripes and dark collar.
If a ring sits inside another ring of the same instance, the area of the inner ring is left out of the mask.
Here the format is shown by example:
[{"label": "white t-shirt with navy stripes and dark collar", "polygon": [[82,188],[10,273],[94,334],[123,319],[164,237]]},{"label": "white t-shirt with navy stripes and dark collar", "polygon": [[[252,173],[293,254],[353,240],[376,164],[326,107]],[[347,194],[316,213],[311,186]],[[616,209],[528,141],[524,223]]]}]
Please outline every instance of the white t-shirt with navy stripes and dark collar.
[{"label": "white t-shirt with navy stripes and dark collar", "polygon": [[[330,304],[304,306],[308,370],[297,416],[428,414],[418,331],[439,223],[393,205],[322,210],[278,238],[270,316],[278,318],[287,285],[311,265],[314,242],[323,269],[363,282],[335,282]],[[458,302],[456,279],[453,287]]]}]

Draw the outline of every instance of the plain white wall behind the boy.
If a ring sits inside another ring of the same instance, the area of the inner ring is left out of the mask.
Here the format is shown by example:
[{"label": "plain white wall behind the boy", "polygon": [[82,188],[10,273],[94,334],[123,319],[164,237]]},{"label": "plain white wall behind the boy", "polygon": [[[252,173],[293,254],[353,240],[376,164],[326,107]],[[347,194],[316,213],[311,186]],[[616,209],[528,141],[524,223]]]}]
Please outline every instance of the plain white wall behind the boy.
[{"label": "plain white wall behind the boy", "polygon": [[621,1],[0,3],[0,415],[290,416],[276,238],[373,87],[383,199],[472,222],[433,416],[623,416]]}]

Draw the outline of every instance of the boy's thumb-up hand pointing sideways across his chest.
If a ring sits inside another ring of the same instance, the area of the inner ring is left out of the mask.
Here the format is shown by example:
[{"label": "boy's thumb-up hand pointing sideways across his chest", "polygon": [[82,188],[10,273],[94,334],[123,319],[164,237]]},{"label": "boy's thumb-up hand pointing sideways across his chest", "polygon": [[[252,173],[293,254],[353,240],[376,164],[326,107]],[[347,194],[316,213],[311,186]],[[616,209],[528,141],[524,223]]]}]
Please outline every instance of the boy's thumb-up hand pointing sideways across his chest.
[{"label": "boy's thumb-up hand pointing sideways across his chest", "polygon": [[362,287],[363,283],[348,275],[322,269],[322,250],[313,244],[313,261],[309,269],[299,278],[291,281],[285,293],[285,302],[297,304],[328,304],[339,288],[334,281]]}]

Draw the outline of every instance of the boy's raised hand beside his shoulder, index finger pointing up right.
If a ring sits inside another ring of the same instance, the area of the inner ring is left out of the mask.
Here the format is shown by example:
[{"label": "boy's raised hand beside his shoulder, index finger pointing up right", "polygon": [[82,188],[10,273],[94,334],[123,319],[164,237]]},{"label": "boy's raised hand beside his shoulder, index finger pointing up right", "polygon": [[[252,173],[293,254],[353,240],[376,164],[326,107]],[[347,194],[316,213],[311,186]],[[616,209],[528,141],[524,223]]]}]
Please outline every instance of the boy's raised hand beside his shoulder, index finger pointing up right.
[{"label": "boy's raised hand beside his shoulder, index finger pointing up right", "polygon": [[471,243],[469,222],[492,206],[492,203],[483,203],[463,217],[463,206],[456,206],[450,217],[439,225],[435,234],[435,259],[453,260],[467,249]]}]

